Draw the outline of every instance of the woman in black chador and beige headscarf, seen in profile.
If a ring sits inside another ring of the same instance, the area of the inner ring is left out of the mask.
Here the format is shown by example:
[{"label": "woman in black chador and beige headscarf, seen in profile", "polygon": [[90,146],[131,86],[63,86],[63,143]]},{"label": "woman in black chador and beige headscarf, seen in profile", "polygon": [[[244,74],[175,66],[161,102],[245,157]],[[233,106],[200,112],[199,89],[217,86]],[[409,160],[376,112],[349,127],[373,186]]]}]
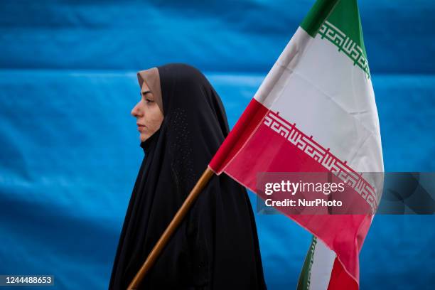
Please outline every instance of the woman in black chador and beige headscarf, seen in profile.
[{"label": "woman in black chador and beige headscarf, seen in profile", "polygon": [[[220,97],[183,64],[138,73],[132,109],[145,157],[124,220],[109,289],[126,289],[228,134]],[[141,289],[266,289],[245,188],[213,176]]]}]

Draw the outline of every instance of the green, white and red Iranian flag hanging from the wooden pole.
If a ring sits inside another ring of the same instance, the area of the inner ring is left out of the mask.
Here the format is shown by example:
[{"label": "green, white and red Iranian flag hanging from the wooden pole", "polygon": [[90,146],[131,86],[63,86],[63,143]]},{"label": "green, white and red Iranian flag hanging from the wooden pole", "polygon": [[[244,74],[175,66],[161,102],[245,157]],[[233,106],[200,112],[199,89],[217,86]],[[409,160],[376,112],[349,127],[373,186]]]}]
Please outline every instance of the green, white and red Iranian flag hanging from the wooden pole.
[{"label": "green, white and red Iranian flag hanging from the wooden pole", "polygon": [[[298,289],[358,289],[380,200],[382,147],[356,0],[318,0],[209,168],[257,190],[257,173],[329,173],[366,214],[294,215],[313,234]],[[349,190],[350,188],[350,190]]]}]

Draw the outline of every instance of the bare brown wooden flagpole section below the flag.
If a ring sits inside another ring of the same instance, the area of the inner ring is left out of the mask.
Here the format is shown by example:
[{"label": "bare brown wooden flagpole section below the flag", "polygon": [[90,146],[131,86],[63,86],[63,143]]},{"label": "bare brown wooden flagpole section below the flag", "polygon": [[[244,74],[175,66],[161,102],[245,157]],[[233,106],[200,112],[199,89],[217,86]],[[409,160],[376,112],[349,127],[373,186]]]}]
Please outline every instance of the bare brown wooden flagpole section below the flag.
[{"label": "bare brown wooden flagpole section below the flag", "polygon": [[173,217],[171,223],[168,225],[168,227],[166,227],[166,230],[163,232],[163,235],[161,235],[159,241],[156,243],[154,248],[149,253],[141,269],[139,269],[139,272],[137,272],[136,276],[134,276],[134,279],[129,284],[127,290],[137,289],[142,279],[144,279],[146,272],[148,272],[149,269],[151,269],[151,267],[154,265],[156,259],[159,257],[159,254],[168,243],[173,232],[175,232],[178,225],[180,225],[181,221],[183,221],[183,218],[186,216],[186,214],[192,207],[193,202],[196,200],[196,198],[198,198],[198,195],[200,194],[201,190],[203,190],[203,188],[207,185],[208,181],[213,176],[213,174],[214,172],[210,168],[207,167],[205,169],[203,175],[199,178],[198,182],[190,191],[186,200],[184,200],[183,205],[181,205],[181,208]]}]

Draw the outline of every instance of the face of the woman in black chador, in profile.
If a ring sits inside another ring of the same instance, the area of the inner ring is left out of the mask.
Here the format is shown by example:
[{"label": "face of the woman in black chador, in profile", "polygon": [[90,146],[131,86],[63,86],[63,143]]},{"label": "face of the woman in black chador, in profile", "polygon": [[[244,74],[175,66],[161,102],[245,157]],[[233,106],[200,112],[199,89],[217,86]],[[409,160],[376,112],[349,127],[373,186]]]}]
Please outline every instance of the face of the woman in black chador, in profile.
[{"label": "face of the woman in black chador, in profile", "polygon": [[141,100],[131,109],[131,115],[136,117],[137,129],[142,142],[159,130],[163,122],[163,112],[146,82],[143,82],[141,87]]}]

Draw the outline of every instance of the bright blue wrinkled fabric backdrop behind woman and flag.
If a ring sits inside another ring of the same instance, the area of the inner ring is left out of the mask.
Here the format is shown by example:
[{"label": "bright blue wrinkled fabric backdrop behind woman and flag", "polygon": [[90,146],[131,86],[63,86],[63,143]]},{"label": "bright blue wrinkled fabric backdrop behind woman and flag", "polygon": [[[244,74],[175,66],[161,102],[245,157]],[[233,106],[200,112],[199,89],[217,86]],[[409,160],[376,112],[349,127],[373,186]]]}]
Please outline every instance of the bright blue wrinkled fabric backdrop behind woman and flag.
[{"label": "bright blue wrinkled fabric backdrop behind woman and flag", "polygon": [[[1,1],[0,274],[107,289],[143,158],[136,71],[197,66],[232,126],[312,4]],[[360,14],[385,170],[435,171],[435,4],[365,0]],[[269,289],[295,289],[311,235],[282,215],[256,218]],[[434,221],[377,216],[361,289],[434,289]]]}]

